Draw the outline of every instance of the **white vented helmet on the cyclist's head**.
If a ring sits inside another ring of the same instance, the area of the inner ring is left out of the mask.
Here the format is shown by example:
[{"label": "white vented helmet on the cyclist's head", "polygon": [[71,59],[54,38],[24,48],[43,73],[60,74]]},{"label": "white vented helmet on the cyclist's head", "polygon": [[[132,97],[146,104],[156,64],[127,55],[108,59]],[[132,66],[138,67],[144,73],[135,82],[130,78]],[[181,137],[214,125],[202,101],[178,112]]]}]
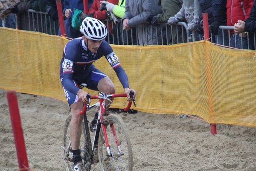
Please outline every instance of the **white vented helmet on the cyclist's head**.
[{"label": "white vented helmet on the cyclist's head", "polygon": [[92,17],[86,17],[83,20],[80,26],[80,32],[83,33],[86,38],[95,41],[101,41],[106,38],[108,34],[105,24]]}]

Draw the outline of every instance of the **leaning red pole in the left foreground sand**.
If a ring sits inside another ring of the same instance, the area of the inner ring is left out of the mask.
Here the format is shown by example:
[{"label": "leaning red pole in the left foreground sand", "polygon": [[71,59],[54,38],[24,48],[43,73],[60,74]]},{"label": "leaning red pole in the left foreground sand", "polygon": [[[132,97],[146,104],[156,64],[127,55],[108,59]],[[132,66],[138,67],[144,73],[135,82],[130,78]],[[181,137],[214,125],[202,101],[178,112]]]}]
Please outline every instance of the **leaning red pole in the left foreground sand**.
[{"label": "leaning red pole in the left foreground sand", "polygon": [[7,91],[6,96],[9,104],[9,111],[12,121],[12,131],[14,135],[19,168],[20,170],[28,170],[29,162],[26,155],[26,146],[23,137],[23,130],[21,127],[17,95],[15,91]]}]

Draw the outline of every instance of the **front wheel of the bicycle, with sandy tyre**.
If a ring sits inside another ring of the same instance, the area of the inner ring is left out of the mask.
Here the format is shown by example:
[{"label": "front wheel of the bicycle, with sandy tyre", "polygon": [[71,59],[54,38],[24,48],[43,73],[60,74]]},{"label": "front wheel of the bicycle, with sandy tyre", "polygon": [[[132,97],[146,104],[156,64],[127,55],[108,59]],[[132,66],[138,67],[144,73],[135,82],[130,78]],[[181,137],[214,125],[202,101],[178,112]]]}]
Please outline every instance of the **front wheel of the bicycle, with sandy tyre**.
[{"label": "front wheel of the bicycle, with sandy tyre", "polygon": [[[119,118],[119,116],[113,114],[107,116],[104,121],[107,123],[105,126],[111,156],[107,156],[108,152],[106,148],[104,133],[101,128],[99,132],[98,145],[100,168],[102,171],[132,171],[133,162],[131,141],[124,122]],[[116,138],[118,139],[120,145],[119,147],[116,145],[111,125],[114,126],[116,131]]]}]

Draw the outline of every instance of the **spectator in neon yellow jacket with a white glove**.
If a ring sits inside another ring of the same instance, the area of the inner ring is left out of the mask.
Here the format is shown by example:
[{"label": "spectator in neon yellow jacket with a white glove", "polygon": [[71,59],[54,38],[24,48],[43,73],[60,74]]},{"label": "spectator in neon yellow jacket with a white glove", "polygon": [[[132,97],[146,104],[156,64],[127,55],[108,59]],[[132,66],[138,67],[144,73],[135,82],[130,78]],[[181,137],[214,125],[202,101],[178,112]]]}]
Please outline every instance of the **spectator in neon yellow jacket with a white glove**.
[{"label": "spectator in neon yellow jacket with a white glove", "polygon": [[137,45],[136,28],[127,31],[124,29],[122,23],[119,23],[122,17],[125,15],[125,0],[119,0],[118,5],[114,5],[113,3],[110,3],[108,1],[102,1],[102,3],[106,4],[106,9],[108,12],[111,13],[114,22],[115,20],[118,21],[118,23],[116,23],[116,25],[113,26],[113,36],[117,36],[119,38],[119,40],[121,41],[120,44]]}]

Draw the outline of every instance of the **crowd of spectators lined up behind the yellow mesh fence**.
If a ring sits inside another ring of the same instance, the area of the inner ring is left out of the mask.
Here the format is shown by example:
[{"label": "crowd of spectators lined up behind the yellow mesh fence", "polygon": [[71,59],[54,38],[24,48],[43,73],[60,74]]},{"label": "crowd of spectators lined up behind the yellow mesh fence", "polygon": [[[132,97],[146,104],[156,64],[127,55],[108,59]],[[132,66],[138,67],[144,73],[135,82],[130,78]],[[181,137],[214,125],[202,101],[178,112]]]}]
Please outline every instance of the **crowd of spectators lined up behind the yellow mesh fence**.
[{"label": "crowd of spectators lined up behind the yellow mesh fence", "polygon": [[[13,0],[1,1],[13,2]],[[0,26],[60,35],[56,0],[16,0],[10,12],[0,11]],[[87,17],[104,21],[106,41],[111,44],[156,45],[187,42],[187,37],[204,35],[203,13],[208,13],[211,41],[239,49],[254,49],[256,5],[254,0],[61,0],[66,36],[81,36],[79,25]],[[102,9],[101,9],[102,7]],[[104,7],[104,8],[103,8]],[[3,9],[3,8],[2,8]],[[48,15],[29,16],[28,9]],[[7,15],[6,15],[7,14]],[[14,15],[15,14],[15,15]],[[28,21],[43,20],[35,27]],[[47,21],[45,23],[45,21]],[[187,24],[187,28],[178,22]],[[219,26],[233,26],[224,31]],[[54,29],[54,31],[53,31]],[[46,30],[46,31],[45,31]],[[195,31],[195,32],[194,32]],[[217,41],[218,40],[218,41]]]}]

